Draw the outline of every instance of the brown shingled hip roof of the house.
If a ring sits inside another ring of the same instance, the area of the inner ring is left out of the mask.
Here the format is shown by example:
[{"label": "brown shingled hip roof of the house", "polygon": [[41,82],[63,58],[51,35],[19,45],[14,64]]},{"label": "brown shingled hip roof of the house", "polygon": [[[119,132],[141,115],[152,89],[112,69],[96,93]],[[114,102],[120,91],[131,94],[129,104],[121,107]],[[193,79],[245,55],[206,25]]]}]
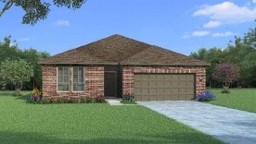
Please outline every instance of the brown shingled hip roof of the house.
[{"label": "brown shingled hip roof of the house", "polygon": [[118,34],[48,57],[40,64],[208,66],[192,57]]}]

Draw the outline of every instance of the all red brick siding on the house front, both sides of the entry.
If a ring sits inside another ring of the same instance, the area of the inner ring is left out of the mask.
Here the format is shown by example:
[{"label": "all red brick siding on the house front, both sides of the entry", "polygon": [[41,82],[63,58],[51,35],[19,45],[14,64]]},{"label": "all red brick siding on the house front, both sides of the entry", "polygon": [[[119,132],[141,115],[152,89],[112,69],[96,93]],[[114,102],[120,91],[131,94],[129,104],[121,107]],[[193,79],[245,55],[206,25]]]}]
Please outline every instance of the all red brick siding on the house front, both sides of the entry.
[{"label": "all red brick siding on the house front, both sides of the entry", "polygon": [[[71,66],[70,66],[71,67]],[[71,69],[71,68],[70,68]],[[134,73],[170,73],[195,74],[195,94],[206,90],[206,72],[203,66],[163,67],[163,66],[123,66],[122,92],[134,93]],[[104,66],[86,66],[84,70],[84,91],[72,91],[72,70],[70,70],[70,91],[57,90],[57,66],[43,66],[43,96],[44,97],[78,97],[104,95]]]}]

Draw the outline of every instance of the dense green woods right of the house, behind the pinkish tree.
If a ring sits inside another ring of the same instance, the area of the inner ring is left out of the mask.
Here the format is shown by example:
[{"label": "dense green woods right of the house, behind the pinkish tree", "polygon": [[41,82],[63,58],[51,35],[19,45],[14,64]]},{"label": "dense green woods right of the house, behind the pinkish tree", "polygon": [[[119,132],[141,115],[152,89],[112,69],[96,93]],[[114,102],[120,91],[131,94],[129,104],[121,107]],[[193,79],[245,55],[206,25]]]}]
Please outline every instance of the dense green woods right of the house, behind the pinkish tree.
[{"label": "dense green woods right of the house, behind the pinkish tree", "polygon": [[237,86],[256,87],[256,28],[250,29],[243,37],[235,37],[225,49],[211,48],[199,49],[190,56],[204,60],[211,64],[206,69],[207,85],[218,86],[220,83],[214,81],[213,72],[221,63],[236,64],[239,69]]}]

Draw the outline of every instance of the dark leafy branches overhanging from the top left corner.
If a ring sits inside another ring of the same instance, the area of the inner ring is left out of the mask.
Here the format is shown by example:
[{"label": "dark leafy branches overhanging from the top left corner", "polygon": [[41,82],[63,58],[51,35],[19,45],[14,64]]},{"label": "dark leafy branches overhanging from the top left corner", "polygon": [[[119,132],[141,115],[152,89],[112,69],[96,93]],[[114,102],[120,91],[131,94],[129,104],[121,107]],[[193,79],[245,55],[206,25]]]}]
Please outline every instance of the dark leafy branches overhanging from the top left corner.
[{"label": "dark leafy branches overhanging from the top left corner", "polygon": [[[37,21],[47,18],[50,11],[48,2],[42,0],[0,0],[4,6],[0,9],[0,17],[12,6],[20,6],[25,15],[22,18],[22,23],[34,25]],[[86,0],[53,0],[55,6],[66,6],[71,9],[80,8]]]}]

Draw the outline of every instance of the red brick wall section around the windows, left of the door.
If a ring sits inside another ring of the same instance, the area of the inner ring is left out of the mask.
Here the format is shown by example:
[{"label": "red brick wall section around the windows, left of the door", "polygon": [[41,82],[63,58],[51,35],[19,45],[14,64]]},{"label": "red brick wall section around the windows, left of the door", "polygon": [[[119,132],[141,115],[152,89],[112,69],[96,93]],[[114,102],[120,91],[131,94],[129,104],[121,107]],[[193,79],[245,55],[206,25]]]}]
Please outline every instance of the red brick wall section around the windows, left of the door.
[{"label": "red brick wall section around the windows, left of the door", "polygon": [[84,91],[72,91],[72,67],[70,66],[70,91],[57,90],[57,66],[43,66],[44,97],[78,97],[104,95],[104,67],[86,66],[84,70]]}]

